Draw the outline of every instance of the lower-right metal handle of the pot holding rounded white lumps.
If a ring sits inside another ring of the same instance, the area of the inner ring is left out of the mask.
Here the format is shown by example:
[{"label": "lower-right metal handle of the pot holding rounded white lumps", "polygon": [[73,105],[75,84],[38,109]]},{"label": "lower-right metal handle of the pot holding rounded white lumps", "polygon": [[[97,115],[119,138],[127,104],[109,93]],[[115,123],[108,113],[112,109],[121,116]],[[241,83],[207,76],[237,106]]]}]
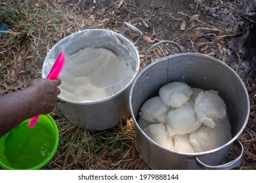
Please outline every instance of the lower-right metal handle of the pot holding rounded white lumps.
[{"label": "lower-right metal handle of the pot holding rounded white lumps", "polygon": [[201,169],[206,169],[206,170],[230,170],[234,169],[235,167],[238,167],[244,159],[244,147],[242,143],[238,140],[234,141],[234,145],[236,145],[238,148],[241,150],[240,156],[238,158],[234,159],[233,161],[230,161],[224,165],[218,165],[218,166],[210,166],[206,165],[205,163],[202,163],[197,157],[195,159],[196,163]]}]

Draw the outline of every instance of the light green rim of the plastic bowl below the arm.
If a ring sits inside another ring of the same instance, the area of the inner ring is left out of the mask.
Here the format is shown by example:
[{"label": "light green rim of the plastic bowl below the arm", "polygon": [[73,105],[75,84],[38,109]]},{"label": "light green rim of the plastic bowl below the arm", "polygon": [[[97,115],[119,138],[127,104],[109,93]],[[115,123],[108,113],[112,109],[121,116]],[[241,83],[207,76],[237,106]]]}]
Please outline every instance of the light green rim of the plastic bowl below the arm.
[{"label": "light green rim of the plastic bowl below the arm", "polygon": [[[46,165],[54,156],[54,154],[56,153],[56,150],[58,148],[58,142],[59,142],[59,133],[58,133],[58,126],[56,125],[56,122],[53,120],[53,118],[50,116],[50,114],[41,114],[40,116],[46,116],[47,118],[49,118],[49,120],[51,121],[51,123],[53,124],[53,127],[54,127],[54,132],[55,132],[55,138],[56,138],[56,141],[55,141],[55,144],[54,144],[54,148],[51,152],[51,154],[44,160],[42,161],[39,165],[36,165],[35,167],[31,167],[31,168],[28,168],[28,169],[24,169],[24,170],[38,170],[40,169],[41,167],[43,167],[44,165]],[[22,123],[27,123],[28,120],[24,120],[23,122],[21,122],[20,124]],[[8,134],[8,133],[7,133]],[[6,135],[7,135],[6,134]],[[4,135],[5,136],[5,135]],[[0,161],[0,167],[2,167],[3,169],[7,169],[7,170],[17,170],[17,169],[13,169],[12,167],[9,167],[5,164],[3,164],[1,161]]]}]

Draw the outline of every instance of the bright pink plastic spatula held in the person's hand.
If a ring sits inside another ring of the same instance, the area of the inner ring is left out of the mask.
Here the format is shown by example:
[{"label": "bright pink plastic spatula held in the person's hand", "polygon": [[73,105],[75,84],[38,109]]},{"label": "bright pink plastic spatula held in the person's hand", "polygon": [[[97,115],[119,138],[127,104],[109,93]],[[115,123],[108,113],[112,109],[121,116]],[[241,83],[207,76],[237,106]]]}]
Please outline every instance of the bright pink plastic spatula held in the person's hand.
[{"label": "bright pink plastic spatula held in the person's hand", "polygon": [[[58,75],[60,75],[64,62],[65,62],[64,52],[60,52],[60,54],[58,55],[58,57],[56,58],[53,64],[53,67],[51,68],[51,71],[47,75],[47,79],[56,80],[58,78]],[[30,118],[30,121],[28,122],[28,127],[33,127],[36,124],[38,118],[39,118],[39,115],[33,118]]]}]

